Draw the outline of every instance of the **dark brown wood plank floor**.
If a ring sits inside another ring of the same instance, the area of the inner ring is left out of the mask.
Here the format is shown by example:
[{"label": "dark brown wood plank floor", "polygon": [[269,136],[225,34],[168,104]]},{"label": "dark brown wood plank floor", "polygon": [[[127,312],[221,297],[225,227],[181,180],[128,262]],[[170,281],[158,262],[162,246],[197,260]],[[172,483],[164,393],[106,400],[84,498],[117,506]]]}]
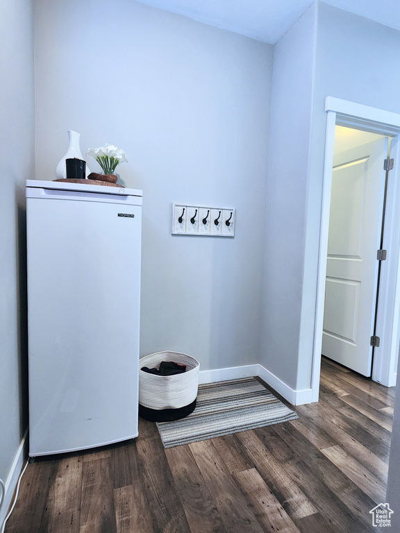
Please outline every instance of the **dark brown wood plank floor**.
[{"label": "dark brown wood plank floor", "polygon": [[6,533],[367,533],[385,502],[394,389],[324,359],[299,419],[164,450],[154,423],[28,464]]}]

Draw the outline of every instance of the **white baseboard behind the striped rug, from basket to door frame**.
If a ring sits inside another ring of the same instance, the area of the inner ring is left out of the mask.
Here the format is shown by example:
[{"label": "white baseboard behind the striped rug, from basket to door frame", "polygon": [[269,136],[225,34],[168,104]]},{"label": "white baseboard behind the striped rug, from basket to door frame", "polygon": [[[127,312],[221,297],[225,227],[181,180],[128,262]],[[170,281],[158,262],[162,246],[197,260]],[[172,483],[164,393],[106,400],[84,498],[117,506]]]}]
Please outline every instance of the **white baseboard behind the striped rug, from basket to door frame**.
[{"label": "white baseboard behind the striped rug, from basket to door frame", "polygon": [[294,390],[288,384],[276,377],[262,364],[248,364],[246,366],[231,366],[226,369],[201,370],[199,372],[199,384],[216,383],[225,380],[238,380],[239,378],[251,378],[258,376],[281,394],[291,405],[303,405],[313,402],[313,389]]}]

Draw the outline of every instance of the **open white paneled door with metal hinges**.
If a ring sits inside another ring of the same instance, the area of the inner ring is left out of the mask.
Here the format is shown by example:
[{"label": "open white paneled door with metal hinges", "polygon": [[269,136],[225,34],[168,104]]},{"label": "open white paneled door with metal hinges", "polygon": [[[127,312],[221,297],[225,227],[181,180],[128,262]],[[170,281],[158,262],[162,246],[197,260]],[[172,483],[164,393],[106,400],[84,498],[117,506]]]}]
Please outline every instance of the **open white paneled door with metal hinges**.
[{"label": "open white paneled door with metal hinges", "polygon": [[369,376],[372,366],[387,137],[335,156],[322,355]]}]

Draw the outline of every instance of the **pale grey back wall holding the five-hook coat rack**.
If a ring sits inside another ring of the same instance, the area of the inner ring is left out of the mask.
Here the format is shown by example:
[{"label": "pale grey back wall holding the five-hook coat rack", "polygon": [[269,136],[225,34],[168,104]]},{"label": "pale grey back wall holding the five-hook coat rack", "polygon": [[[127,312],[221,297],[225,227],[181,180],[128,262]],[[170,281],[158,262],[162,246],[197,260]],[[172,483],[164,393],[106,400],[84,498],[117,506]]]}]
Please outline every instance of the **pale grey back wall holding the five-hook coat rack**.
[{"label": "pale grey back wall holding the five-hook coat rack", "polygon": [[[271,77],[272,46],[131,0],[35,3],[36,177],[53,179],[68,129],[83,153],[128,153],[121,180],[144,191],[142,355],[258,361]],[[172,237],[173,201],[235,207],[235,238]]]}]

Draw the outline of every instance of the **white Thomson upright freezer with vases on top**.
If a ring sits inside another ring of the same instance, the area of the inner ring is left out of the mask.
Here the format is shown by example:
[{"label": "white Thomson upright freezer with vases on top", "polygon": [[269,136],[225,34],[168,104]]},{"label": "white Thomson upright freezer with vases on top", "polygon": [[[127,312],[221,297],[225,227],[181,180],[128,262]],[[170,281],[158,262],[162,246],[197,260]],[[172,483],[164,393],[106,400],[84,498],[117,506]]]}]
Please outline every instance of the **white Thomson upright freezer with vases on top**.
[{"label": "white Thomson upright freezer with vases on top", "polygon": [[142,192],[26,181],[29,455],[138,436]]}]

